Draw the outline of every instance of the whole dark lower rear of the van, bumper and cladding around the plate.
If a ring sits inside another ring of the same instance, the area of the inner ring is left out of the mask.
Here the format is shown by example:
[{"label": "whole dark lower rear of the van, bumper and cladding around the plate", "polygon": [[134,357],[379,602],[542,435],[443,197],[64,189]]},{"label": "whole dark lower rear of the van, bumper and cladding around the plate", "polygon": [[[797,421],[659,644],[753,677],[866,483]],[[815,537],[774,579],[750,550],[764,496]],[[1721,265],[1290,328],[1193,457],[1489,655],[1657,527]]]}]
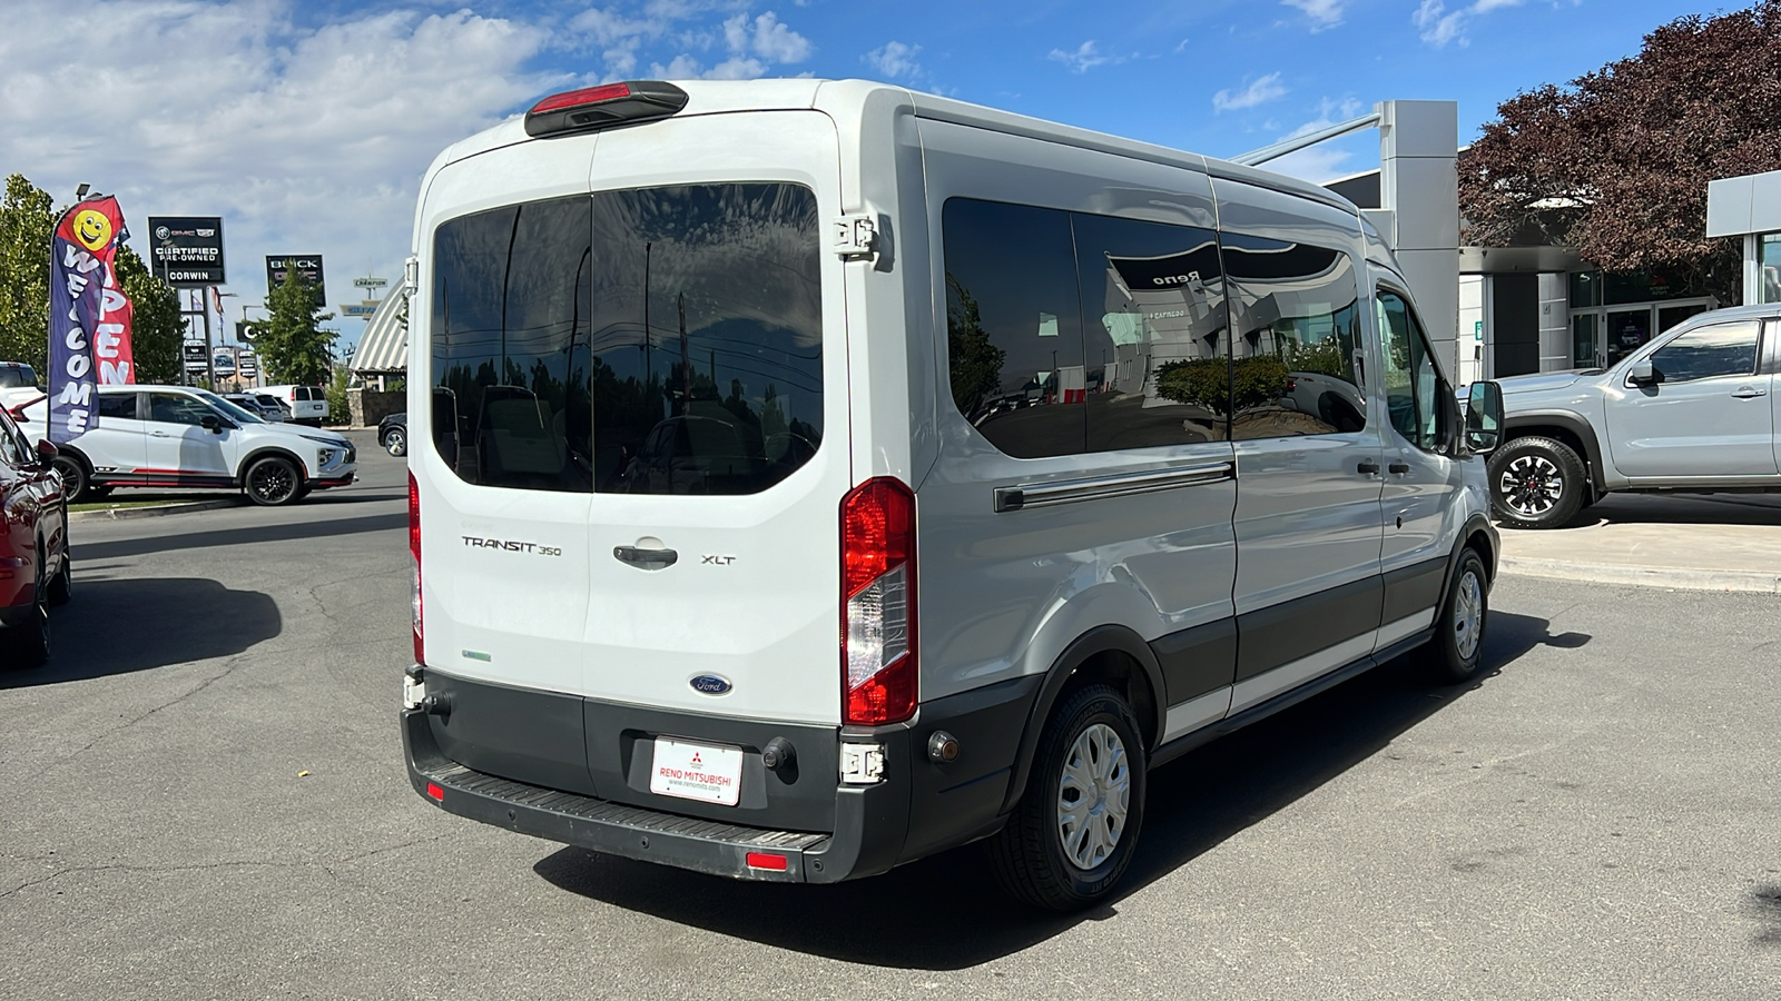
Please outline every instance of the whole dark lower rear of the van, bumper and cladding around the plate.
[{"label": "whole dark lower rear of the van, bumper and cladding around the plate", "polygon": [[[420,670],[440,714],[401,714],[408,780],[429,803],[495,826],[593,851],[720,876],[834,883],[994,834],[1015,773],[1038,677],[924,702],[914,720],[853,728],[787,725],[664,711],[518,689]],[[411,671],[413,673],[413,671]],[[419,700],[420,696],[415,695]],[[930,761],[946,730],[955,761]],[[734,807],[650,791],[654,739],[711,741],[743,750]],[[793,766],[764,769],[773,737],[796,748]],[[841,746],[883,748],[869,785],[841,780]],[[750,866],[750,853],[784,869]]]}]

